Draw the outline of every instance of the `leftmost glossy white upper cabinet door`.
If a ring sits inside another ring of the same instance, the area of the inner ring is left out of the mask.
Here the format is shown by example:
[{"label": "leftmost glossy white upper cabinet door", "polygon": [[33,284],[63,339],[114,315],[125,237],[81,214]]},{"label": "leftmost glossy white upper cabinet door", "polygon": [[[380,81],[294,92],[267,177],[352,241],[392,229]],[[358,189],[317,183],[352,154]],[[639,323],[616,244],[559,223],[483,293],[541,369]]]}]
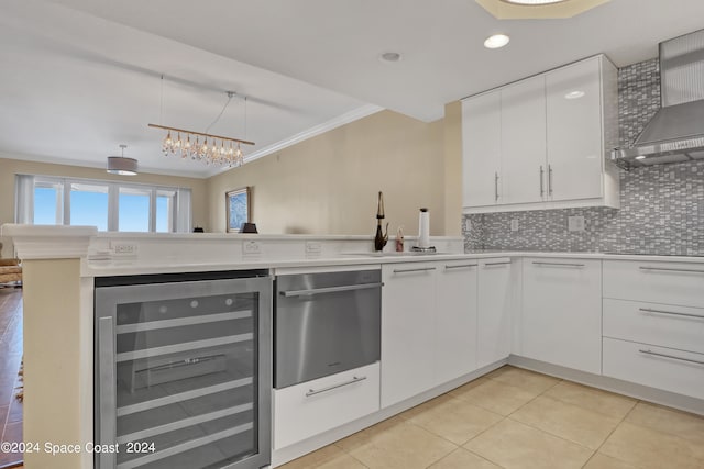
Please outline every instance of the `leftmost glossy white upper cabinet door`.
[{"label": "leftmost glossy white upper cabinet door", "polygon": [[462,102],[462,200],[494,205],[501,198],[501,92]]}]

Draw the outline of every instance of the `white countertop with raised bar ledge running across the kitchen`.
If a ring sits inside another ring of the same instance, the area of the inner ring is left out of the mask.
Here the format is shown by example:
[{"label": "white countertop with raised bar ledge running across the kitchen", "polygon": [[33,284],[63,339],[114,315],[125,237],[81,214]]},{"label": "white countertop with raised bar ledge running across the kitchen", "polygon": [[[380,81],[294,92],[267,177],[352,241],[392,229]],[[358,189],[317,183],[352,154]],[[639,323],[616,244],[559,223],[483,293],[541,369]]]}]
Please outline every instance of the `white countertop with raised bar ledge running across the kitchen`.
[{"label": "white countertop with raised bar ledge running across the kitchen", "polygon": [[[704,257],[572,252],[462,253],[461,236],[431,236],[438,254],[380,255],[371,252],[372,236],[361,235],[232,235],[201,233],[98,233],[89,226],[2,225],[21,259],[79,258],[81,276],[107,277],[212,270],[381,266],[396,263],[450,261],[490,257],[636,260],[640,263],[704,264]],[[406,249],[416,237],[406,237]],[[253,254],[248,247],[256,245]],[[118,255],[119,245],[134,246],[134,255]],[[392,249],[393,238],[387,249]]]}]

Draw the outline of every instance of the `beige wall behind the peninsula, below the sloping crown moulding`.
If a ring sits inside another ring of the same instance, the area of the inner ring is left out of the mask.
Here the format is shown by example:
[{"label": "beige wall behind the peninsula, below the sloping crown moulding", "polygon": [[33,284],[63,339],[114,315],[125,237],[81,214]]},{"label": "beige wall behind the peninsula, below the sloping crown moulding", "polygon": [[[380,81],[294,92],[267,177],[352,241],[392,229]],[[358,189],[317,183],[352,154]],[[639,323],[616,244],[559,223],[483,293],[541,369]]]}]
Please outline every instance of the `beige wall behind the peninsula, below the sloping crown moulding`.
[{"label": "beige wall behind the peninsula, below the sloping crown moulding", "polygon": [[[210,228],[226,231],[224,193],[252,187],[260,233],[374,235],[377,192],[389,234],[446,233],[442,120],[424,123],[382,111],[209,179]],[[459,224],[460,213],[453,215]]]}]

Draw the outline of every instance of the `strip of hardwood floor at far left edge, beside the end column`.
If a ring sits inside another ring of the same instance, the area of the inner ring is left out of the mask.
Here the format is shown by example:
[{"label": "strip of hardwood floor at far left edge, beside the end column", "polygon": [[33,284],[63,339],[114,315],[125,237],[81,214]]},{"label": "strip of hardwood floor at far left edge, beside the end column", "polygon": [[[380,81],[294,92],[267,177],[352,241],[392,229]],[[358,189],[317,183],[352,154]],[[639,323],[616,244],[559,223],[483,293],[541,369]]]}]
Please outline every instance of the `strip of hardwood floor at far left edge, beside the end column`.
[{"label": "strip of hardwood floor at far left edge, beside the end column", "polygon": [[[22,289],[0,287],[0,442],[22,442]],[[0,468],[21,467],[22,454],[0,453]]]}]

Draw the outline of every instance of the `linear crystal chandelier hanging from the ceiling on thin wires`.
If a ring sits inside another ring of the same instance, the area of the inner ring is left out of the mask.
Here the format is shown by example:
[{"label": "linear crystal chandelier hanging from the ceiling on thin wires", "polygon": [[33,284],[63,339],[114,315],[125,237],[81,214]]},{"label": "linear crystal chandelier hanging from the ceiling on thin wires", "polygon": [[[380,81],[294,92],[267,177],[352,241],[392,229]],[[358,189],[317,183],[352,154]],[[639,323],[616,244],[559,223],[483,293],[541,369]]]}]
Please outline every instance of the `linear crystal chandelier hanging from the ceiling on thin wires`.
[{"label": "linear crystal chandelier hanging from the ceiling on thin wires", "polygon": [[[162,78],[163,79],[163,78]],[[234,91],[227,91],[228,101],[216,120],[208,125],[206,132],[188,131],[185,129],[169,127],[167,125],[148,124],[150,127],[162,129],[166,131],[166,136],[162,141],[162,152],[164,156],[178,155],[182,158],[190,158],[197,161],[204,161],[208,165],[227,165],[229,167],[239,167],[244,164],[244,154],[240,145],[254,145],[240,138],[224,137],[221,135],[209,134],[208,131],[222,116],[224,110],[230,104]],[[246,97],[244,98],[244,129],[246,133]],[[182,137],[183,134],[183,137]],[[201,139],[202,137],[202,139]]]}]

